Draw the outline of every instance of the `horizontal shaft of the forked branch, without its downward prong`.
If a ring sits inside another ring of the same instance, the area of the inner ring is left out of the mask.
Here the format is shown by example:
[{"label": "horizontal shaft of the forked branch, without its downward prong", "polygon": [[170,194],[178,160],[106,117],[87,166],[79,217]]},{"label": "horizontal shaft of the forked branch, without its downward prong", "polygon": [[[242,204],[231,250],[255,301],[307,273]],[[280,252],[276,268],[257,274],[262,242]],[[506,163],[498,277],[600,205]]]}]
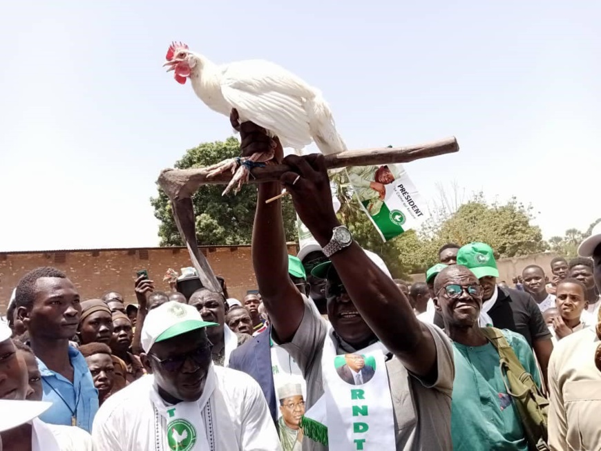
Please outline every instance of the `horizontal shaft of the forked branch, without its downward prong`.
[{"label": "horizontal shaft of the forked branch, without its downward prong", "polygon": [[[368,164],[408,163],[422,158],[445,155],[459,151],[455,137],[436,142],[406,147],[366,148],[361,151],[346,151],[325,156],[327,169],[347,166],[366,166]],[[289,171],[285,164],[274,164],[251,171],[249,183],[271,182],[279,180],[280,175]],[[189,198],[204,184],[227,184],[232,174],[227,171],[207,177],[207,171],[200,169],[164,169],[158,184],[171,200]]]}]

